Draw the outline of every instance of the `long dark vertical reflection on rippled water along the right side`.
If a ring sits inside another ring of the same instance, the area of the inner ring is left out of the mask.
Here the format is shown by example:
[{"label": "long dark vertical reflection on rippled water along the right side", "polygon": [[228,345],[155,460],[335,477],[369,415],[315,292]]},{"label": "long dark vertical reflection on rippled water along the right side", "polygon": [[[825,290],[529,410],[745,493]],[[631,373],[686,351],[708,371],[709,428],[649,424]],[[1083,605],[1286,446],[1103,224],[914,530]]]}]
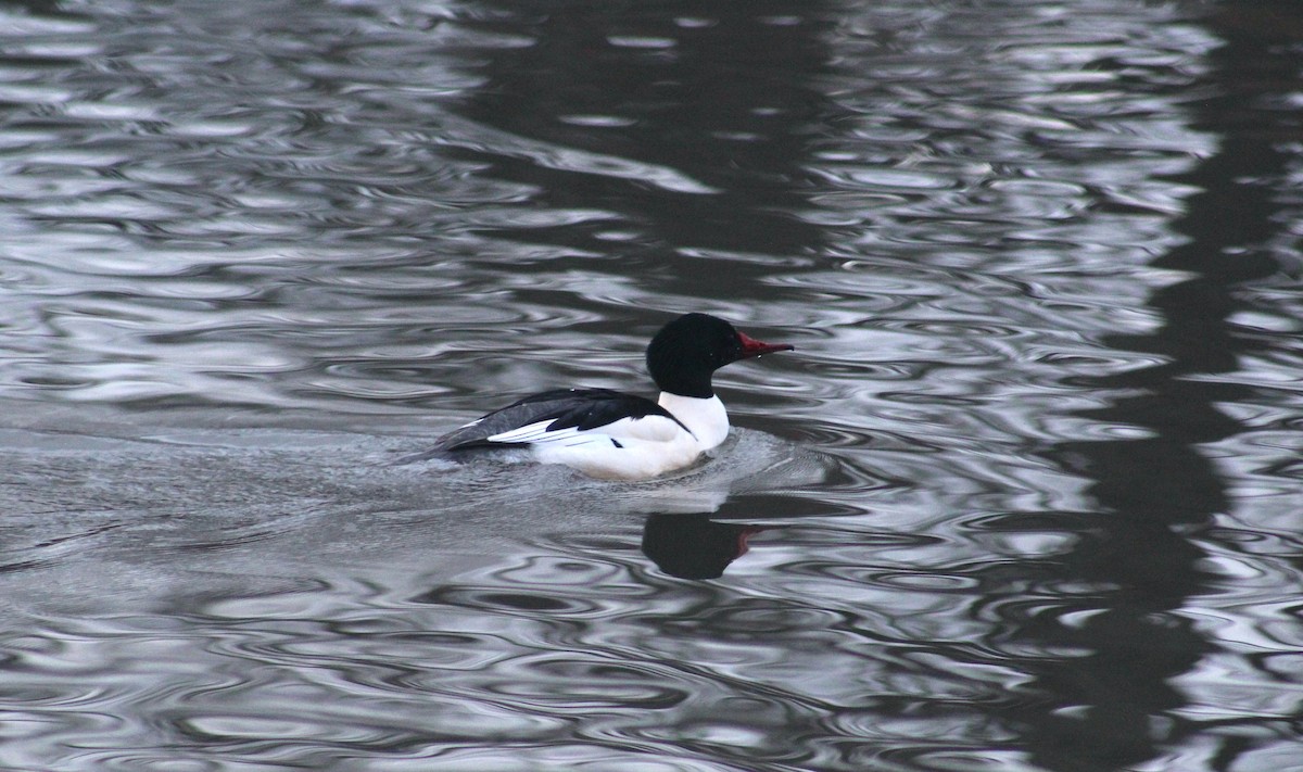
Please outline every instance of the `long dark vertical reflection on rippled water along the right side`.
[{"label": "long dark vertical reflection on rippled water along the right side", "polygon": [[[1188,239],[1154,261],[1188,278],[1149,300],[1161,313],[1154,333],[1104,339],[1118,351],[1158,355],[1162,364],[1085,381],[1126,396],[1080,415],[1143,426],[1145,436],[1061,442],[1052,453],[1092,479],[1089,493],[1101,506],[1080,523],[1084,537],[1058,557],[1057,570],[1109,589],[1088,606],[1079,601],[1072,612],[1080,618],[1042,609],[1018,631],[1018,639],[1036,647],[1084,653],[1028,669],[1032,685],[1054,695],[1024,716],[1036,728],[1028,735],[1032,760],[1046,769],[1134,768],[1164,746],[1187,742],[1201,724],[1178,719],[1191,704],[1175,679],[1217,647],[1194,619],[1173,612],[1220,592],[1220,572],[1199,541],[1234,506],[1231,482],[1207,447],[1250,429],[1220,406],[1255,402],[1259,393],[1213,378],[1238,372],[1274,346],[1233,318],[1255,308],[1237,296],[1238,288],[1283,267],[1272,257],[1283,222],[1269,181],[1291,164],[1276,142],[1300,137],[1293,116],[1264,110],[1270,100],[1264,82],[1287,82],[1303,65],[1298,48],[1289,48],[1289,34],[1274,39],[1276,56],[1261,56],[1264,30],[1257,25],[1272,16],[1227,7],[1208,20],[1226,44],[1210,57],[1204,80],[1216,95],[1194,104],[1195,124],[1216,132],[1220,146],[1174,177],[1199,190],[1171,224]],[[1252,34],[1237,30],[1240,23],[1252,25]],[[1018,529],[1024,519],[1010,516],[999,527]],[[1093,613],[1083,614],[1081,606]],[[1280,717],[1281,737],[1293,732],[1290,719]],[[1263,729],[1272,732],[1270,724]],[[1229,768],[1253,745],[1222,735],[1209,763]]]}]

